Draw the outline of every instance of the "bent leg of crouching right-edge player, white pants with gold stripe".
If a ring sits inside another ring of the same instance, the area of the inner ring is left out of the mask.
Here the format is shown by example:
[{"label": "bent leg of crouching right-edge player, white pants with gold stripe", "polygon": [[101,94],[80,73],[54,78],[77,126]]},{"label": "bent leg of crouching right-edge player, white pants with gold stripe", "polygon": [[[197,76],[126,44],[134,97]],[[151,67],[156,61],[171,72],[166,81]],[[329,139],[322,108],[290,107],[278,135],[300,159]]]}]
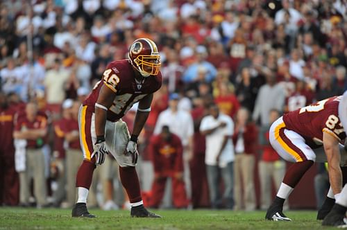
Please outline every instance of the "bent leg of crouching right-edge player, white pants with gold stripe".
[{"label": "bent leg of crouching right-edge player, white pants with gold stripe", "polygon": [[280,156],[294,162],[287,172],[278,189],[278,193],[273,203],[266,212],[266,220],[291,221],[283,213],[283,204],[294,190],[301,177],[311,168],[316,155],[313,150],[306,145],[305,139],[296,132],[285,129],[285,123],[279,118],[270,127],[270,143]]}]

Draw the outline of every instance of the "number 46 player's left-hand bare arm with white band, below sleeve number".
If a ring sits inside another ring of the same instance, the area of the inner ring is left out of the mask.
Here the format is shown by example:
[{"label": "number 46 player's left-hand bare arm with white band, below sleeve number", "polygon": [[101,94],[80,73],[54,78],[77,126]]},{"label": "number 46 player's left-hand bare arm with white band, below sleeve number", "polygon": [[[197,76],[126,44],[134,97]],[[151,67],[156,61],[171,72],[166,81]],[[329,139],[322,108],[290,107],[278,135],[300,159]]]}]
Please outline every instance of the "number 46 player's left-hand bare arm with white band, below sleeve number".
[{"label": "number 46 player's left-hand bare arm with white band, below sleeve number", "polygon": [[95,104],[95,133],[96,136],[105,136],[105,124],[108,108],[115,99],[115,91],[103,84],[100,89],[98,100]]}]

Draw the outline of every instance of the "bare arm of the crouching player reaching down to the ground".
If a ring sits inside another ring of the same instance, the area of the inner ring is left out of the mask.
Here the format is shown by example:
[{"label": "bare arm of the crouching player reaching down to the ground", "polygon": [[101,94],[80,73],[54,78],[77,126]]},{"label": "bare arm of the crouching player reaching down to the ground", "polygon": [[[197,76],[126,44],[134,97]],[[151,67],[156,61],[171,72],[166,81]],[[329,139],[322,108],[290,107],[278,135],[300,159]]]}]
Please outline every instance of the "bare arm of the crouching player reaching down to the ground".
[{"label": "bare arm of the crouching player reaching down to the ground", "polygon": [[342,172],[340,168],[339,140],[328,132],[323,132],[323,145],[328,159],[329,180],[335,195],[341,193]]}]

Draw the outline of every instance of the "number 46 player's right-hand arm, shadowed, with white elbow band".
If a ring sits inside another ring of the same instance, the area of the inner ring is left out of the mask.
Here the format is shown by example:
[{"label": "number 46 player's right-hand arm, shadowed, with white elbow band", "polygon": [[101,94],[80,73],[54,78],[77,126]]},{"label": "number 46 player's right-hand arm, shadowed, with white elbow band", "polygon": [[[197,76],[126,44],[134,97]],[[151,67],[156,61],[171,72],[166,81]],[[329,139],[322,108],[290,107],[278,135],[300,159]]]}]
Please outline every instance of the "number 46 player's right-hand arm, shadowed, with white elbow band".
[{"label": "number 46 player's right-hand arm, shadowed, with white elbow band", "polygon": [[151,103],[153,100],[153,94],[149,94],[139,101],[139,107],[135,116],[135,123],[133,127],[133,133],[131,134],[130,140],[137,141],[137,136],[141,132],[144,124],[149,117],[149,112],[151,112]]}]

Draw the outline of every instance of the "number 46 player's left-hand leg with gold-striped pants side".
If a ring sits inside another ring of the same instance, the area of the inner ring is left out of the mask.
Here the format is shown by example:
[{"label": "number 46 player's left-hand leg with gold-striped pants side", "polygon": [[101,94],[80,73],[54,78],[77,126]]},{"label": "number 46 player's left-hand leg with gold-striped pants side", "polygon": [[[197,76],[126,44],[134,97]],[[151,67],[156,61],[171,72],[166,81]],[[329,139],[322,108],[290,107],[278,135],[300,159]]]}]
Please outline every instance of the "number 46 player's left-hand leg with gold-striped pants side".
[{"label": "number 46 player's left-hand leg with gold-striped pants side", "polygon": [[91,158],[93,152],[92,132],[94,132],[93,114],[87,110],[87,106],[80,108],[78,112],[78,126],[80,130],[80,142],[83,151],[83,162],[78,168],[76,176],[76,187],[78,190],[78,200],[72,209],[71,215],[73,217],[87,217],[94,218],[87,210],[87,197],[92,184],[93,172],[95,169],[95,159]]}]

